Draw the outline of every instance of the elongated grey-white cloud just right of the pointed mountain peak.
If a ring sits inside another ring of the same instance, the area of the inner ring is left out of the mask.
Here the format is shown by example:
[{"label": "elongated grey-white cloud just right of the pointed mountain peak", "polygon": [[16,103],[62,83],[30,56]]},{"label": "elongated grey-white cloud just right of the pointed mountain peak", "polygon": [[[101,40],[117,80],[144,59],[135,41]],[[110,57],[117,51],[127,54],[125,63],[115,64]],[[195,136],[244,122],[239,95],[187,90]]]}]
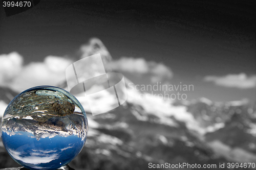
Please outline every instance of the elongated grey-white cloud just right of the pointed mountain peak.
[{"label": "elongated grey-white cloud just right of the pointed mountain peak", "polygon": [[173,71],[162,63],[146,61],[143,58],[122,57],[119,60],[110,62],[108,67],[124,72],[130,72],[138,76],[150,75],[152,83],[168,81],[173,77]]}]

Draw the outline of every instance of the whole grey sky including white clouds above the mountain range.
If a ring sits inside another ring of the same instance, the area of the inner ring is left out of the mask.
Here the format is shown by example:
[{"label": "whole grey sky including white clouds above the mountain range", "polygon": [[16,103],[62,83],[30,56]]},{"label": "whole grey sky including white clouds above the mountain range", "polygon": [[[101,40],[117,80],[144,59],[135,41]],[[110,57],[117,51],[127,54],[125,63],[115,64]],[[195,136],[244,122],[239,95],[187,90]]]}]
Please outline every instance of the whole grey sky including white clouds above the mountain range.
[{"label": "whole grey sky including white clouds above the mountain range", "polygon": [[250,1],[42,0],[9,17],[0,9],[1,85],[22,89],[65,80],[63,71],[79,59],[80,46],[97,37],[114,59],[112,66],[137,87],[193,85],[180,91],[187,100],[255,103]]}]

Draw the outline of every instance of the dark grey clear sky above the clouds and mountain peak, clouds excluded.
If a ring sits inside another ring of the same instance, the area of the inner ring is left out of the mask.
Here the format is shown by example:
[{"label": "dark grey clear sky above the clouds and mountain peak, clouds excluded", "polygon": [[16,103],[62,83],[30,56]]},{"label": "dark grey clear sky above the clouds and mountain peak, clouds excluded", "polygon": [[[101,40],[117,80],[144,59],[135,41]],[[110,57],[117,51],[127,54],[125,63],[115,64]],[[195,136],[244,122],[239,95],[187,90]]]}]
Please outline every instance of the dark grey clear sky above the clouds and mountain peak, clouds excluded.
[{"label": "dark grey clear sky above the clouds and mountain peak, clouds excluded", "polygon": [[255,100],[254,89],[202,82],[207,75],[255,74],[253,1],[42,0],[10,17],[1,7],[0,24],[0,54],[17,51],[25,63],[75,55],[98,37],[114,59],[142,57],[172,68],[174,84],[194,84],[189,99]]}]

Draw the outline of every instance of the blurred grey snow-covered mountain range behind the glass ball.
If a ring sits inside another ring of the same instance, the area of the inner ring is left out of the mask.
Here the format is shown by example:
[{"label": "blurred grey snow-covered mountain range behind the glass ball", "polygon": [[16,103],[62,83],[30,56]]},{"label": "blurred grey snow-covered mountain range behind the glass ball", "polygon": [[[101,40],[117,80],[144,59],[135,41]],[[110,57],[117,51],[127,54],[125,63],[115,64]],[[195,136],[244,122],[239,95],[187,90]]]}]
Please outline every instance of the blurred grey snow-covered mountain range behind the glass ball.
[{"label": "blurred grey snow-covered mountain range behind the glass ball", "polygon": [[[90,40],[81,49],[83,57],[99,52],[104,54],[105,63],[112,60],[99,39]],[[126,85],[130,82],[124,80]],[[59,86],[67,89],[66,82],[60,82]],[[102,87],[92,85],[91,90],[94,88]],[[141,98],[144,93],[127,86],[126,89],[127,101],[123,105],[96,116],[92,116],[84,98],[77,98],[87,112],[89,132],[83,150],[70,163],[71,167],[148,169],[150,162],[186,162],[216,164],[218,169],[220,163],[256,161],[256,117],[248,102],[220,103],[206,98],[166,101],[151,95]],[[7,107],[16,95],[6,87],[0,87],[0,93],[0,108]],[[111,100],[106,98],[110,95],[106,92],[91,100],[111,105]],[[0,144],[0,168],[14,166],[14,161],[7,157]]]}]

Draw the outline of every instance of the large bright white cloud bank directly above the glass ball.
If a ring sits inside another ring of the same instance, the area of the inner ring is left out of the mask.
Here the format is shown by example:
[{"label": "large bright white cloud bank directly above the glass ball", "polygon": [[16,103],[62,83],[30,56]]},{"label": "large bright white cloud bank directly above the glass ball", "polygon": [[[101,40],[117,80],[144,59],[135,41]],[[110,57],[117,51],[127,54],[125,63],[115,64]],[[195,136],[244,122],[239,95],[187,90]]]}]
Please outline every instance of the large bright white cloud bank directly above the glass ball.
[{"label": "large bright white cloud bank directly above the glass ball", "polygon": [[48,56],[43,62],[24,66],[23,57],[16,52],[0,55],[0,85],[19,92],[40,85],[56,86],[66,81],[66,68],[71,63],[63,57]]}]

